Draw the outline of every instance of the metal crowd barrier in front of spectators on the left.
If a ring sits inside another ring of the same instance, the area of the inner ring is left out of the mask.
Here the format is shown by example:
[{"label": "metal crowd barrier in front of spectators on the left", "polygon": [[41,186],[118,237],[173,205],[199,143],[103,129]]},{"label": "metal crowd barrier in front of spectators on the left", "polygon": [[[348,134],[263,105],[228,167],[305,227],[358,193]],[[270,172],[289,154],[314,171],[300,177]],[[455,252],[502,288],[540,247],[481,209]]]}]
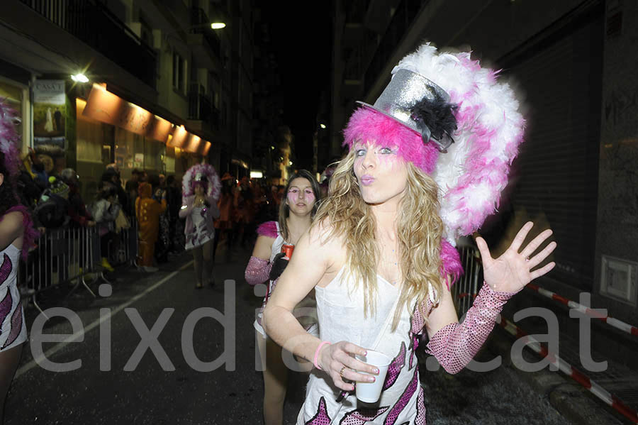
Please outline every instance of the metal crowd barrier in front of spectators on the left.
[{"label": "metal crowd barrier in front of spectators on the left", "polygon": [[[113,265],[130,263],[135,265],[138,252],[138,231],[135,225],[116,234],[117,244],[111,241],[108,257]],[[23,263],[18,277],[23,297],[30,297],[36,309],[38,294],[57,285],[72,285],[67,297],[79,287],[84,287],[95,297],[89,283],[97,280],[108,282],[101,265],[99,228],[57,228],[47,229],[35,241],[35,249]]]}]

